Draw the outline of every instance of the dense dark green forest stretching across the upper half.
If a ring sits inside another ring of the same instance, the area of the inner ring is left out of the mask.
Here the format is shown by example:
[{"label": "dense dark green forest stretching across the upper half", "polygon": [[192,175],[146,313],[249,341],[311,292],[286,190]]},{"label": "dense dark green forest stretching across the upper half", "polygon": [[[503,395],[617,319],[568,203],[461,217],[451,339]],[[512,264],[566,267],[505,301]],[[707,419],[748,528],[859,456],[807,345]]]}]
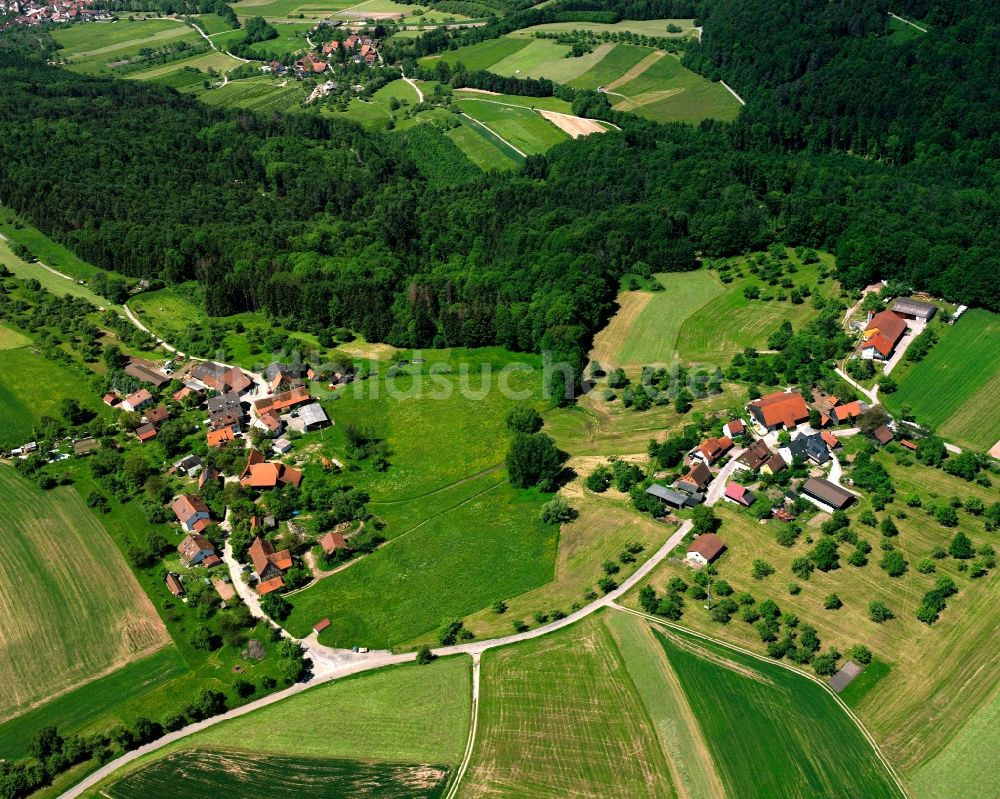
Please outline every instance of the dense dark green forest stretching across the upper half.
[{"label": "dense dark green forest stretching across the upper half", "polygon": [[[398,345],[545,348],[579,367],[623,274],[773,241],[836,252],[849,286],[896,277],[1000,309],[989,7],[901,3],[936,25],[896,42],[879,3],[686,6],[561,0],[511,17],[697,11],[705,37],[686,58],[747,96],[736,123],[612,112],[620,134],[452,186],[424,177],[435,148],[407,137],[209,108],[0,48],[0,199],[101,267],[198,279],[212,314],[263,309]],[[394,55],[509,20],[434,31]],[[574,107],[607,110],[587,93]]]}]

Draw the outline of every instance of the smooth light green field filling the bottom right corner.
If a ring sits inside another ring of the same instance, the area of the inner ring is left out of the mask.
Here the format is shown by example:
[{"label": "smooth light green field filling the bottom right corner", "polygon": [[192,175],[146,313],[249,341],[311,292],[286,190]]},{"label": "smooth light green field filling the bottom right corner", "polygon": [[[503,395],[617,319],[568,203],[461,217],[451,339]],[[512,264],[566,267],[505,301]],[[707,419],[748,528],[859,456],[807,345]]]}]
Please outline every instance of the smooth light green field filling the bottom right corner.
[{"label": "smooth light green field filling the bottom right corner", "polygon": [[909,775],[918,799],[989,796],[1000,785],[1000,694],[984,705],[958,734]]}]

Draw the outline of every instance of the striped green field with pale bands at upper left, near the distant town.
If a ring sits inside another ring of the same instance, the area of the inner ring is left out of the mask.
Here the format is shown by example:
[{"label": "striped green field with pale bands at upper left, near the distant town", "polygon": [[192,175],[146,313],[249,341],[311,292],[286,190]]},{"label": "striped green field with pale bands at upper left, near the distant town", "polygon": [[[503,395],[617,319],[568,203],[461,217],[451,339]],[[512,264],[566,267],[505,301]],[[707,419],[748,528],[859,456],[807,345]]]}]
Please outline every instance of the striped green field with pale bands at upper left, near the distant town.
[{"label": "striped green field with pale bands at upper left, near the distant town", "polygon": [[168,19],[90,22],[59,28],[52,36],[62,46],[59,57],[66,59],[68,67],[91,75],[107,74],[112,65],[138,55],[143,48],[204,42],[194,28]]}]

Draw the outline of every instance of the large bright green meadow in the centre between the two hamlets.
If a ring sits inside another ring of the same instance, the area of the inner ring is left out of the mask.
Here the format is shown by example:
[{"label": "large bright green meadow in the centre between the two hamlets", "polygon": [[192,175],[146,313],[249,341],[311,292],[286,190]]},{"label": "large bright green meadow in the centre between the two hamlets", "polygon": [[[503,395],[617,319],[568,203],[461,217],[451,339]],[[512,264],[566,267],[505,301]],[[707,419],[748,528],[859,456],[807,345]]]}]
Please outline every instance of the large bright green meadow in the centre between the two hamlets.
[{"label": "large bright green meadow in the centre between the two hamlets", "polygon": [[[337,424],[307,440],[307,447],[319,445],[317,455],[344,460],[347,423],[384,438],[390,468],[377,472],[363,463],[346,480],[371,495],[369,507],[386,523],[390,543],[293,595],[294,632],[329,616],[324,643],[399,645],[446,618],[552,578],[557,530],[538,520],[546,497],[511,488],[501,469],[509,441],[503,416],[513,401],[498,389],[496,372],[510,356],[498,350],[424,355],[424,371],[359,382],[341,393],[329,404]],[[439,361],[452,364],[452,374],[429,375]],[[466,378],[463,362],[471,371]],[[489,377],[480,372],[487,367]],[[508,377],[515,391],[538,396],[539,372]]]}]

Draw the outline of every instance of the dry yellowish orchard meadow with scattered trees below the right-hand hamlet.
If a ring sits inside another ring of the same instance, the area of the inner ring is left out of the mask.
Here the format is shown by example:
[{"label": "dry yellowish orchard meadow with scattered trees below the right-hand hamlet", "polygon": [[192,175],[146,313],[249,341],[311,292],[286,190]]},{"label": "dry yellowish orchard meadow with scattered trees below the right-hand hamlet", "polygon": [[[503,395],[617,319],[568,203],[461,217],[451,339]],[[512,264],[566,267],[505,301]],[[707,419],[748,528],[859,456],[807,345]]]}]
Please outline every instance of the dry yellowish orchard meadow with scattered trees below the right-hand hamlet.
[{"label": "dry yellowish orchard meadow with scattered trees below the right-hand hamlet", "polygon": [[[748,591],[758,600],[774,600],[785,612],[794,613],[816,628],[823,649],[833,646],[845,652],[860,643],[868,646],[875,658],[888,666],[880,668],[884,676],[854,702],[854,709],[879,741],[890,760],[906,772],[919,767],[940,749],[995,693],[995,685],[981,675],[1000,668],[1000,628],[997,625],[996,592],[1000,575],[996,570],[979,579],[971,579],[959,570],[959,561],[934,560],[935,572],[920,574],[916,564],[928,558],[935,547],[947,547],[956,529],[965,532],[975,546],[991,540],[979,517],[958,511],[957,528],[946,528],[922,508],[905,506],[904,497],[917,494],[925,507],[933,507],[956,496],[965,500],[976,496],[984,503],[996,501],[996,491],[952,477],[941,470],[896,462],[889,454],[878,456],[896,486],[897,497],[889,507],[899,530],[892,539],[909,564],[901,577],[891,578],[879,565],[880,534],[858,521],[861,511],[869,508],[867,499],[850,509],[851,529],[869,541],[873,551],[866,566],[846,562],[849,545],[841,545],[840,568],[815,571],[808,580],[796,577],[791,563],[811,548],[807,536],[818,538],[818,521],[804,525],[805,531],[791,547],[777,543],[781,523],[775,520],[758,524],[752,514],[728,504],[717,505],[722,520],[719,535],[726,542],[727,553],[717,563],[722,579],[737,591]],[[905,461],[904,461],[905,462]],[[898,512],[905,517],[899,518]],[[878,513],[881,518],[885,513]],[[752,577],[755,559],[770,564],[775,573],[762,580]],[[951,577],[958,593],[948,599],[940,619],[928,626],[918,621],[916,611],[924,593],[941,575]],[[690,571],[664,562],[649,578],[657,591],[667,580],[679,576],[690,581]],[[801,588],[792,596],[791,582]],[[836,594],[843,607],[827,610],[825,599]],[[884,602],[895,618],[876,624],[868,617],[872,601]],[[628,604],[633,606],[630,595]],[[637,605],[635,605],[637,606]],[[732,641],[753,651],[763,652],[754,628],[733,620],[720,625],[700,607],[689,602],[682,624],[718,638]]]}]

